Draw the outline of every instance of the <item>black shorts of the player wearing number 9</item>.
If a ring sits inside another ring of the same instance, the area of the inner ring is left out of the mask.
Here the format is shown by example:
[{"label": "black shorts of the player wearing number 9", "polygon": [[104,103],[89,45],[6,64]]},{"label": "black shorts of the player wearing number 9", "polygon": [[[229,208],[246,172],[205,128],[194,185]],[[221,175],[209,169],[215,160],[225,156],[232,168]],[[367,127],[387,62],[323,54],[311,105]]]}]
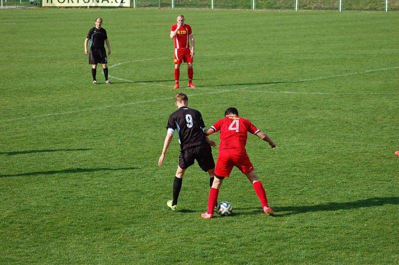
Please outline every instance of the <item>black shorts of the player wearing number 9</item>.
[{"label": "black shorts of the player wearing number 9", "polygon": [[198,165],[203,171],[208,171],[215,167],[212,156],[212,149],[208,143],[184,149],[179,155],[179,166],[183,169],[188,168],[197,160]]}]

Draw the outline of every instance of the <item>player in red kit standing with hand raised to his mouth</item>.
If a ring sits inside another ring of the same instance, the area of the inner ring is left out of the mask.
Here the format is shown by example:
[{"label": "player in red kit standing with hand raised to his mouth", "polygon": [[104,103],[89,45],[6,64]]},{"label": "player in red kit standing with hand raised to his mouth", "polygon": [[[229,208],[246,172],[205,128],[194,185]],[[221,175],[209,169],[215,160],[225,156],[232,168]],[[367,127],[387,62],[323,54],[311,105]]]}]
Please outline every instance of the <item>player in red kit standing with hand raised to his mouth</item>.
[{"label": "player in red kit standing with hand raised to his mouth", "polygon": [[[180,65],[182,62],[187,63],[187,74],[189,75],[189,87],[195,88],[196,86],[193,84],[193,56],[194,52],[194,36],[193,30],[191,26],[184,23],[184,15],[178,15],[177,24],[171,27],[171,39],[175,41],[175,87],[174,89],[178,89],[179,78],[180,78]],[[191,42],[191,48],[190,43]]]}]

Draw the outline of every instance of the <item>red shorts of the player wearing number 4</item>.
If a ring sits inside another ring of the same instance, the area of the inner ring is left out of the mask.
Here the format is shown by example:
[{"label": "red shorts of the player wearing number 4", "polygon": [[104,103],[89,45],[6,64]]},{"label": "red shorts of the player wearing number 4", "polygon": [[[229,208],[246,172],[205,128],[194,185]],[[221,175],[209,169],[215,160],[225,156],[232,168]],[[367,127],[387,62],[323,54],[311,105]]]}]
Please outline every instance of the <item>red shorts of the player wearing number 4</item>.
[{"label": "red shorts of the player wearing number 4", "polygon": [[233,166],[236,166],[244,174],[253,171],[253,165],[245,151],[234,149],[220,150],[217,157],[215,175],[228,177]]}]

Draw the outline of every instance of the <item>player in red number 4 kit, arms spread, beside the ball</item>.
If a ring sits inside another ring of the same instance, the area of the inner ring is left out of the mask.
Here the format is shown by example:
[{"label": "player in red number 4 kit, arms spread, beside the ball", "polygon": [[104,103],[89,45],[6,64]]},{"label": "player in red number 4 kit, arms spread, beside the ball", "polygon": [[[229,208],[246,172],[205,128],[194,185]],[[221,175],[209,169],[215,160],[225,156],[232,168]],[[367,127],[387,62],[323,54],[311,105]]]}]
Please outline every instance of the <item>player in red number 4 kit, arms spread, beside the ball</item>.
[{"label": "player in red number 4 kit, arms spread, beside the ball", "polygon": [[251,182],[265,214],[273,215],[274,212],[267,203],[266,192],[262,186],[262,182],[260,182],[253,170],[253,165],[246,153],[247,133],[255,134],[262,140],[267,141],[272,148],[276,147],[276,144],[266,133],[262,133],[249,120],[239,117],[236,108],[228,108],[224,115],[224,119],[217,121],[205,132],[207,136],[220,131],[220,145],[215,168],[215,178],[209,190],[208,210],[202,213],[201,216],[206,219],[213,218],[213,207],[217,200],[220,185],[223,179],[230,175],[233,166],[241,170]]}]

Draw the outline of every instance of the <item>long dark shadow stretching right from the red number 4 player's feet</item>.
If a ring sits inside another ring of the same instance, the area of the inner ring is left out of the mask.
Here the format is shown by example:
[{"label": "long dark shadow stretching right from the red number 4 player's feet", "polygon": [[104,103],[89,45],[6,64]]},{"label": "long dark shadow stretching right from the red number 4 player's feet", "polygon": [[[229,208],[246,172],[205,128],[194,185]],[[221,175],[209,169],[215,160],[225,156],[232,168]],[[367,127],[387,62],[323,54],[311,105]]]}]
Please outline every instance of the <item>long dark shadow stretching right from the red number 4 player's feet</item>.
[{"label": "long dark shadow stretching right from the red number 4 player's feet", "polygon": [[[339,211],[339,210],[350,210],[359,208],[370,208],[376,206],[382,206],[386,204],[399,205],[399,197],[374,197],[364,200],[357,200],[351,202],[330,202],[327,204],[318,205],[303,205],[303,206],[276,206],[274,209],[275,217],[284,217],[293,214],[302,214],[309,212],[324,212],[324,211]],[[253,208],[236,208],[236,210],[248,210],[254,209],[253,211],[245,211],[242,215],[246,214],[259,214],[261,210],[259,207]]]}]

